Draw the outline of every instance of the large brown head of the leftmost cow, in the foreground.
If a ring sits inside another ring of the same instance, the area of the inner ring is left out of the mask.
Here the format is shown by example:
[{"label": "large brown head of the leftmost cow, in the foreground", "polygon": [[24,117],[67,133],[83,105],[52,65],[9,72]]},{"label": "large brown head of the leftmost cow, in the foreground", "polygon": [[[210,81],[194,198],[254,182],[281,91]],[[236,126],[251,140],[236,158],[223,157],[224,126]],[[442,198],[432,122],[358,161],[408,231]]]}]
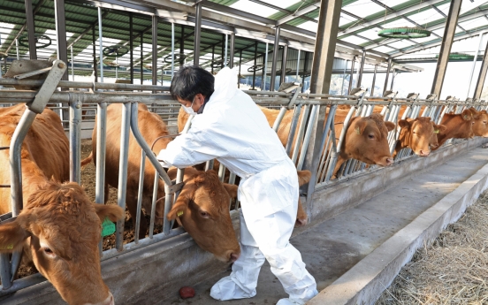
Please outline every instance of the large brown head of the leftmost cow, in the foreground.
[{"label": "large brown head of the leftmost cow, in the foreground", "polygon": [[114,304],[103,283],[98,243],[103,219],[123,216],[116,205],[90,202],[76,183],[50,182],[29,196],[17,219],[0,225],[0,251],[27,242],[37,270],[69,304]]}]

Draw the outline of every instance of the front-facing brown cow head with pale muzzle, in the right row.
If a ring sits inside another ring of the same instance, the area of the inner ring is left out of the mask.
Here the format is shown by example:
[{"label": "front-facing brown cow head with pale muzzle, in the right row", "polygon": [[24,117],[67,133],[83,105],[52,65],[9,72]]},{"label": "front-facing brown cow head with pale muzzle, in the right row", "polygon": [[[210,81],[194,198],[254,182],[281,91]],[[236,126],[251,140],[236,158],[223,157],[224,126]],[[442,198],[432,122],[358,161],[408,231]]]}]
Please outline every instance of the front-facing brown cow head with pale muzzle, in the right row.
[{"label": "front-facing brown cow head with pale muzzle, in the right row", "polygon": [[431,118],[400,119],[400,141],[405,141],[407,146],[417,156],[429,156],[431,148],[438,147],[438,133],[446,131],[446,126],[436,125]]}]

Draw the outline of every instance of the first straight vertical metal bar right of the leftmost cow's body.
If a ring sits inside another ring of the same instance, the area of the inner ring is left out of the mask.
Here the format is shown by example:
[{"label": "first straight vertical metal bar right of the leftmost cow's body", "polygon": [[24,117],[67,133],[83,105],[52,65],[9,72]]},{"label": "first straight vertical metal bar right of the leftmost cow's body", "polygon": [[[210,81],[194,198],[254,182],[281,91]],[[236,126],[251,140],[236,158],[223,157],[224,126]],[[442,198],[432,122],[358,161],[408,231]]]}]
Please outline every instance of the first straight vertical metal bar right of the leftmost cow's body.
[{"label": "first straight vertical metal bar right of the leftmost cow's body", "polygon": [[81,183],[81,107],[83,95],[70,93],[70,181]]}]

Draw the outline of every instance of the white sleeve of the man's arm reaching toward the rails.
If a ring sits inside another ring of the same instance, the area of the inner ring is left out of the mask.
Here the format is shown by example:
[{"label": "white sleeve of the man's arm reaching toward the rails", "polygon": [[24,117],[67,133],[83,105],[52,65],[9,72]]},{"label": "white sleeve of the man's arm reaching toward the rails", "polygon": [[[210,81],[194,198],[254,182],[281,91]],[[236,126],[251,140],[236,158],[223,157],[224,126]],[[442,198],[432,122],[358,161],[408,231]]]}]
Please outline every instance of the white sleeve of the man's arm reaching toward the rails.
[{"label": "white sleeve of the man's arm reaching toward the rails", "polygon": [[195,164],[202,164],[218,157],[220,149],[212,145],[211,134],[202,130],[192,130],[184,133],[171,141],[166,149],[162,149],[157,159],[162,161],[164,167],[172,165],[185,168]]}]

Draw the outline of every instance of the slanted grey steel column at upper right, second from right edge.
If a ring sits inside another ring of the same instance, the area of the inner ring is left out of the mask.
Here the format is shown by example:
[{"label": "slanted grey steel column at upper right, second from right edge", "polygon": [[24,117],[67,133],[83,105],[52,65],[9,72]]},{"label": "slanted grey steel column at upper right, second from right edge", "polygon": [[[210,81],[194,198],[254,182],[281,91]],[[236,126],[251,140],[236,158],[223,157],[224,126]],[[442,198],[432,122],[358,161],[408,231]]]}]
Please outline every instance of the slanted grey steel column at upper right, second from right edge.
[{"label": "slanted grey steel column at upper right, second from right edge", "polygon": [[444,82],[444,77],[446,76],[447,63],[449,62],[449,54],[451,53],[451,47],[453,46],[461,3],[462,0],[453,0],[449,6],[446,28],[444,29],[444,35],[442,35],[442,44],[440,46],[440,53],[438,54],[438,64],[436,66],[431,89],[431,94],[437,95],[438,97],[440,97],[442,84]]}]

